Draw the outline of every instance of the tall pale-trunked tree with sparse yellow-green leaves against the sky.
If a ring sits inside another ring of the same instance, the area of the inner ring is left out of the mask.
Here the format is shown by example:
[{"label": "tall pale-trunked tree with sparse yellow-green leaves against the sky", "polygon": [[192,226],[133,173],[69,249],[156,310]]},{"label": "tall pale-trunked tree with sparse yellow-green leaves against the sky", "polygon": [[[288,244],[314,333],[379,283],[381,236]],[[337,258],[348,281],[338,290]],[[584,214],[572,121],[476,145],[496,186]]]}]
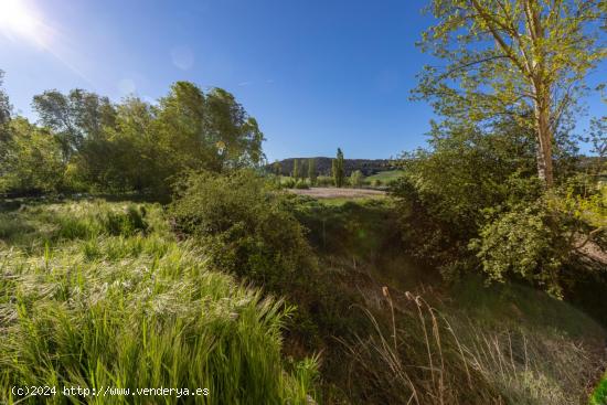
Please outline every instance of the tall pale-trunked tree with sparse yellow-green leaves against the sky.
[{"label": "tall pale-trunked tree with sparse yellow-green leaves against the sky", "polygon": [[439,22],[424,33],[422,47],[447,66],[426,66],[416,97],[448,119],[492,125],[511,116],[528,125],[537,174],[551,188],[555,134],[607,52],[595,35],[600,3],[433,0]]}]

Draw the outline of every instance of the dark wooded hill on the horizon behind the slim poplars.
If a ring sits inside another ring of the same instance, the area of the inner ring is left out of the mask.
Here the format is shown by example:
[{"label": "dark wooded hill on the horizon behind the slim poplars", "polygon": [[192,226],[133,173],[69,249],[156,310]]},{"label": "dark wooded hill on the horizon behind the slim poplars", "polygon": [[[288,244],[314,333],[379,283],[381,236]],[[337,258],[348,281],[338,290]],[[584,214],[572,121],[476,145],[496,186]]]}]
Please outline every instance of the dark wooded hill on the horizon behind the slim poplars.
[{"label": "dark wooded hill on the horizon behind the slim poplars", "polygon": [[[283,175],[290,175],[292,173],[294,161],[298,159],[303,162],[305,173],[308,174],[308,160],[316,159],[316,170],[319,175],[331,175],[331,160],[333,158],[288,158],[279,160],[280,163],[280,173]],[[344,159],[343,166],[345,169],[345,175],[350,175],[355,170],[360,170],[364,175],[372,175],[380,171],[393,170],[396,169],[393,160],[388,159]],[[273,164],[269,163],[267,169],[273,171]]]}]

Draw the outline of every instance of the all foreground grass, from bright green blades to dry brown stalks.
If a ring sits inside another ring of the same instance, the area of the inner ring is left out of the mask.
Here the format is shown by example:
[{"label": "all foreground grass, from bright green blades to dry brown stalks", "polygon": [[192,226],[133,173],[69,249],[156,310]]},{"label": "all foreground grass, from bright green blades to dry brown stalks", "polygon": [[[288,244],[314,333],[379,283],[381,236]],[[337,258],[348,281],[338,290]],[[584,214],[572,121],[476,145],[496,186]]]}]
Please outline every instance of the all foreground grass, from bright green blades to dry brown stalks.
[{"label": "all foreground grass, from bright green blades to dry brown stalks", "polygon": [[[4,209],[0,401],[158,399],[18,398],[13,385],[210,392],[164,403],[588,401],[607,339],[589,317],[517,285],[487,289],[472,277],[438,287],[400,253],[387,198],[286,196],[321,273],[308,289],[281,288],[283,298],[214,267],[204,246],[173,232],[159,204]],[[352,373],[364,384],[353,384]],[[593,398],[603,392],[598,385]]]}]

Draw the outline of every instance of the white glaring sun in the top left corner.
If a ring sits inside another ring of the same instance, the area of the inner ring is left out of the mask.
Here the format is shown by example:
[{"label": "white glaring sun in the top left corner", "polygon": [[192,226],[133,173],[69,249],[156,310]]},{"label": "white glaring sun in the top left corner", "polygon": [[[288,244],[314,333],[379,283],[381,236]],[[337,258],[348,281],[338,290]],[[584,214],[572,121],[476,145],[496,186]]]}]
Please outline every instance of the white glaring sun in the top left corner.
[{"label": "white glaring sun in the top left corner", "polygon": [[0,0],[0,31],[4,35],[39,41],[41,22],[24,0]]}]

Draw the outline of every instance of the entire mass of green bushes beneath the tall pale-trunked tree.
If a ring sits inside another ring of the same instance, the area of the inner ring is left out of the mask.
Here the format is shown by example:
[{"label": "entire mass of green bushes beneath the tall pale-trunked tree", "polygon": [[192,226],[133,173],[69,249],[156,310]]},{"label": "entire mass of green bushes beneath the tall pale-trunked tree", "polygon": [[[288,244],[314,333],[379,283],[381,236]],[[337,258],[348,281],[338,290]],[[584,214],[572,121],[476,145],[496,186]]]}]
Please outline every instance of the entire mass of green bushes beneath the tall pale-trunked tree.
[{"label": "entire mass of green bushes beneath the tall pale-trunked tree", "polygon": [[586,243],[579,239],[604,235],[596,180],[561,180],[546,193],[533,175],[534,147],[512,121],[490,131],[435,127],[432,136],[433,150],[405,156],[393,188],[408,251],[448,279],[480,269],[566,295],[575,277],[565,273]]}]

